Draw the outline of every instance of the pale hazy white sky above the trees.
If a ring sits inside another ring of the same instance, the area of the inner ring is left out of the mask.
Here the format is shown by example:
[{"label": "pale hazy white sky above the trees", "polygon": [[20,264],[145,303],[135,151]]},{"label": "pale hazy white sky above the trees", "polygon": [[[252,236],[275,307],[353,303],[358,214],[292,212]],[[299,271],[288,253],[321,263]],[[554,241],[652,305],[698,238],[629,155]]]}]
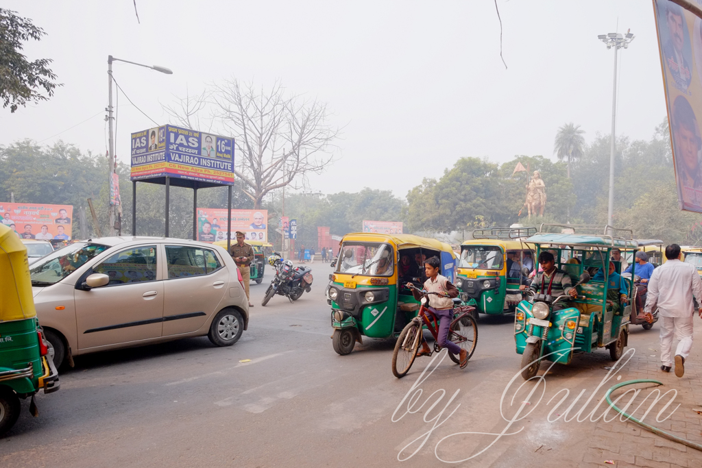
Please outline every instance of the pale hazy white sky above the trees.
[{"label": "pale hazy white sky above the trees", "polygon": [[[463,156],[503,162],[552,156],[559,126],[609,134],[614,51],[597,34],[631,32],[620,54],[617,133],[649,139],[665,116],[651,1],[18,1],[48,35],[26,55],[52,58],[64,86],[48,102],[0,113],[0,144],[56,140],[105,154],[107,55],[114,76],[152,119],[161,104],[236,76],[327,103],[345,126],[338,161],[312,189],[362,187],[399,196]],[[92,118],[91,118],[92,117]],[[86,121],[86,119],[88,119]],[[84,122],[85,121],[85,122]],[[84,122],[84,123],[81,123]],[[79,124],[79,125],[77,125]],[[67,130],[74,126],[74,128]],[[120,96],[117,155],[153,124]],[[56,135],[60,133],[59,135]],[[53,136],[55,135],[55,136]]]}]

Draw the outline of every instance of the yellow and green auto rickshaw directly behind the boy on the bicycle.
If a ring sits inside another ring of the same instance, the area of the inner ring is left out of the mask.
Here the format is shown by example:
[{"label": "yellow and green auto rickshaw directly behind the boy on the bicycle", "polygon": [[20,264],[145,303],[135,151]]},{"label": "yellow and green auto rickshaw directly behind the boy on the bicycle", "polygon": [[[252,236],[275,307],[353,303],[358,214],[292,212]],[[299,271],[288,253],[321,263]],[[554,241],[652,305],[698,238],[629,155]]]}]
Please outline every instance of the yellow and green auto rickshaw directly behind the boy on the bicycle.
[{"label": "yellow and green auto rickshaw directly behind the boy on the bicycle", "polygon": [[453,281],[456,255],[447,243],[411,234],[346,234],[326,290],[334,351],[349,354],[364,335],[399,336],[420,308],[404,285],[422,287],[424,260],[431,257]]}]

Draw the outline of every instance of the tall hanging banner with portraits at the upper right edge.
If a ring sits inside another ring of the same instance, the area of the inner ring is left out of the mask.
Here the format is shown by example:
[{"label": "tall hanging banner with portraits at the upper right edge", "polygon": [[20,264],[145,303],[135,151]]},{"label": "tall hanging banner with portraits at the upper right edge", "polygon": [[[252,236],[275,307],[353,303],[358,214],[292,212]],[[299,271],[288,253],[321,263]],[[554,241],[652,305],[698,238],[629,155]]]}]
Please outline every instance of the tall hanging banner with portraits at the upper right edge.
[{"label": "tall hanging banner with portraits at the upper right edge", "polygon": [[701,20],[668,0],[654,0],[665,102],[680,209],[702,213]]}]

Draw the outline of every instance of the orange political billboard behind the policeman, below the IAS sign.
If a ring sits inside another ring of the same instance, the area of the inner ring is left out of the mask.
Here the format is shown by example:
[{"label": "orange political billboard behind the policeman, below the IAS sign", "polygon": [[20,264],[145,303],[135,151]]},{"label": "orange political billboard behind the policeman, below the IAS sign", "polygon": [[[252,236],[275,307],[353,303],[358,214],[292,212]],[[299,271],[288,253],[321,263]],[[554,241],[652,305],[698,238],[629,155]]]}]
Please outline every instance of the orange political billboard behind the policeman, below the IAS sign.
[{"label": "orange political billboard behind the policeman, below the IAS sign", "polygon": [[[197,208],[197,240],[227,240],[227,208]],[[268,210],[232,210],[232,234],[246,234],[246,241],[268,241]]]}]

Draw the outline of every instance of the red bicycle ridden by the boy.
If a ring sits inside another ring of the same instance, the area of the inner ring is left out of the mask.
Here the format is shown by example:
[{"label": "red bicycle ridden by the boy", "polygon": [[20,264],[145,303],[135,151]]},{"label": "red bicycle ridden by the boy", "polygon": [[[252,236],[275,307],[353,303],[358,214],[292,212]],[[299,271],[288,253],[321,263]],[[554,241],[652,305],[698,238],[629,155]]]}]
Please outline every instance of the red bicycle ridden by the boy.
[{"label": "red bicycle ridden by the boy", "polygon": [[[397,378],[404,377],[412,367],[423,339],[423,326],[427,327],[435,340],[434,349],[430,351],[430,356],[442,350],[442,347],[438,345],[439,321],[428,307],[428,296],[431,294],[439,295],[439,293],[428,293],[415,287],[413,289],[422,293],[421,307],[417,316],[402,329],[395,343],[395,350],[392,352],[392,374]],[[458,305],[460,302],[458,299],[453,300],[454,305]],[[478,326],[475,318],[472,316],[474,310],[475,307],[469,305],[454,307],[453,321],[451,321],[451,326],[449,326],[448,339],[465,349],[465,352],[468,354],[467,359],[470,359],[470,356],[475,352],[475,345],[478,340]],[[449,352],[449,357],[454,363],[461,363],[459,357],[451,352]]]}]

